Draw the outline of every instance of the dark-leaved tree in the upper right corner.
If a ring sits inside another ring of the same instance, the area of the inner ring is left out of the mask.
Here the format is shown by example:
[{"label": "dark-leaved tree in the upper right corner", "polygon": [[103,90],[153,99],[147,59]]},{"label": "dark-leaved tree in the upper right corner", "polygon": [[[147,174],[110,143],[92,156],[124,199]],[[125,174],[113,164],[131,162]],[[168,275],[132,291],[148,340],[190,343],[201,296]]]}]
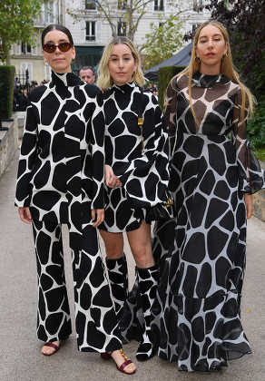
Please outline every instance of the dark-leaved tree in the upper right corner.
[{"label": "dark-leaved tree in the upper right corner", "polygon": [[265,99],[265,1],[211,0],[211,17],[230,34],[235,66],[258,100]]}]

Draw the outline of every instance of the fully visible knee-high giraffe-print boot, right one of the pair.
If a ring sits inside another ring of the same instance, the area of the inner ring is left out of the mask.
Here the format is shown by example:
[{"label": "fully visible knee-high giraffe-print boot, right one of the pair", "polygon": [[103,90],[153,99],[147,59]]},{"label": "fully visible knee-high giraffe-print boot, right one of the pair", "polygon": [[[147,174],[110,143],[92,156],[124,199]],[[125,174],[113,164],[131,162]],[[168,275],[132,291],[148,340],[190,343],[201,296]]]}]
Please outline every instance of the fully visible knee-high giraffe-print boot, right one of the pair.
[{"label": "fully visible knee-high giraffe-print boot, right one of the pair", "polygon": [[147,360],[154,355],[155,349],[152,344],[151,323],[153,320],[151,308],[155,298],[158,269],[152,266],[148,269],[137,268],[139,291],[142,300],[143,334],[140,346],[137,349],[136,358],[140,361]]}]

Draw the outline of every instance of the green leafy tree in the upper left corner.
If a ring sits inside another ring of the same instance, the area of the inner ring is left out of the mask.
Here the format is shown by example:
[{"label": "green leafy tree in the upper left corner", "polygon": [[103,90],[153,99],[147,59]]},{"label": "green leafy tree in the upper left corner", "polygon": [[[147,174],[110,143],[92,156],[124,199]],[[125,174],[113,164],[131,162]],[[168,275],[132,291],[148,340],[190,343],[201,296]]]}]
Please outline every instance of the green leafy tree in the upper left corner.
[{"label": "green leafy tree in the upper left corner", "polygon": [[0,5],[0,55],[9,63],[12,44],[20,41],[34,44],[34,18],[39,14],[44,0],[2,0]]}]

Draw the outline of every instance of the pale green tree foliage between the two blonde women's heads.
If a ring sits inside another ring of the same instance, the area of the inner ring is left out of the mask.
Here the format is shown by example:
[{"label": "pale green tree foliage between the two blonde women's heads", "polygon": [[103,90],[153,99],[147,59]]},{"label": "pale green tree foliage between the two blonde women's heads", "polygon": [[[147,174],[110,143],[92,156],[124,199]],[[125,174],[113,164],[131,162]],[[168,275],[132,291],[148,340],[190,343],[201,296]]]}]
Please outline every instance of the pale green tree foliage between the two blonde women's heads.
[{"label": "pale green tree foliage between the two blonde women's heads", "polygon": [[143,70],[162,63],[182,47],[183,21],[180,21],[180,15],[170,15],[166,21],[163,20],[159,15],[159,25],[150,24],[151,33],[145,34],[141,48]]}]

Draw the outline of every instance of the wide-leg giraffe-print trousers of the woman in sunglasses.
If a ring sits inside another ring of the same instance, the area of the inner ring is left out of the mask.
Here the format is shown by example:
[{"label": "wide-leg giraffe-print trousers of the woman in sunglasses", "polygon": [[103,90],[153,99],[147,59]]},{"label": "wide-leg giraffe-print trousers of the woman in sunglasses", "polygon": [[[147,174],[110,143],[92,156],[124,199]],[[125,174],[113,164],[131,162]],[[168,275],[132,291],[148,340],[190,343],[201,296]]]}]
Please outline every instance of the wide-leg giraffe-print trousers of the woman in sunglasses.
[{"label": "wide-leg giraffe-print trousers of the woman in sunglasses", "polygon": [[[67,338],[72,322],[64,277],[61,224],[34,221],[38,274],[37,337],[44,342]],[[123,347],[110,287],[105,277],[97,231],[83,224],[83,249],[72,249],[74,327],[82,352]]]}]

